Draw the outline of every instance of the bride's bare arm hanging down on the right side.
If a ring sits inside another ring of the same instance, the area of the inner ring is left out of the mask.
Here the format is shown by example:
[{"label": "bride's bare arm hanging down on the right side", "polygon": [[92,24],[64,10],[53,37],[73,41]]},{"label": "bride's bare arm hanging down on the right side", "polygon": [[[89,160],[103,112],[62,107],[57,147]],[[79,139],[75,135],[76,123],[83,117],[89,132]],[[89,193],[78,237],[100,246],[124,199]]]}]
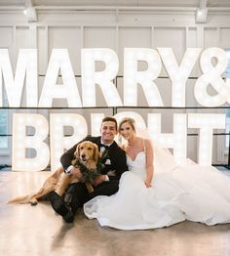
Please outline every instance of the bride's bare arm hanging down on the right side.
[{"label": "bride's bare arm hanging down on the right side", "polygon": [[145,186],[147,188],[151,187],[152,179],[153,179],[153,161],[154,161],[154,154],[153,154],[153,147],[149,140],[144,140],[145,149],[146,149],[146,179],[144,181]]}]

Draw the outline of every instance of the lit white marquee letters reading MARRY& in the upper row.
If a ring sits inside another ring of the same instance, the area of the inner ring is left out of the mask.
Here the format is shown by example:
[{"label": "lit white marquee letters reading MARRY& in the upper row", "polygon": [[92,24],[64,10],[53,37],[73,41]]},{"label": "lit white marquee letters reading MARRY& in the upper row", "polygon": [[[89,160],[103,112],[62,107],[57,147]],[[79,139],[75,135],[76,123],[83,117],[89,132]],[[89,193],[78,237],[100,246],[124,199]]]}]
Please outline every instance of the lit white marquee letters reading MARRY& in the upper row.
[{"label": "lit white marquee letters reading MARRY& in the upper row", "polygon": [[[172,107],[185,107],[186,81],[199,57],[203,73],[195,82],[196,101],[204,107],[230,103],[230,81],[221,78],[228,62],[226,52],[219,48],[201,51],[201,48],[188,48],[177,64],[171,48],[125,48],[122,101],[113,83],[119,60],[111,49],[81,50],[81,97],[67,49],[53,49],[40,97],[37,49],[19,50],[15,76],[8,50],[0,49],[0,107],[3,107],[3,86],[9,107],[21,106],[23,92],[26,107],[52,107],[55,99],[65,99],[68,107],[96,107],[96,86],[101,89],[108,107],[136,107],[138,85],[142,87],[149,107],[164,107],[154,82],[163,64],[172,82]],[[98,62],[103,63],[103,70],[96,70]],[[145,70],[138,70],[140,62],[147,64]],[[59,74],[61,84],[58,84]],[[209,86],[215,94],[209,94]]]}]

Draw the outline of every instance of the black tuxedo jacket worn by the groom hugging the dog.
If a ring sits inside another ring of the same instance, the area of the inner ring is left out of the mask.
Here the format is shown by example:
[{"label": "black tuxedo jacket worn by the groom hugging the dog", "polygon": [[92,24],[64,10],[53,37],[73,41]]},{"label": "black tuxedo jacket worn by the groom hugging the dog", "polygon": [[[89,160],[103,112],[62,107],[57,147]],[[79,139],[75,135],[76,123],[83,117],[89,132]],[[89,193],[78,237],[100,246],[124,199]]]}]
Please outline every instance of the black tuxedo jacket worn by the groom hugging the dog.
[{"label": "black tuxedo jacket worn by the groom hugging the dog", "polygon": [[[91,141],[97,145],[98,149],[100,149],[100,140],[101,140],[100,136],[99,137],[87,136],[81,142]],[[71,149],[68,149],[61,155],[60,162],[64,169],[67,169],[71,165],[71,161],[74,158],[74,152],[78,144],[74,145]],[[123,149],[121,149],[117,145],[116,142],[113,142],[113,144],[108,149],[107,155],[109,160],[107,160],[106,162],[102,161],[102,163],[105,163],[105,166],[104,168],[102,168],[101,174],[108,175],[109,180],[119,180],[121,178],[121,175],[125,171],[128,171],[126,153]]]}]

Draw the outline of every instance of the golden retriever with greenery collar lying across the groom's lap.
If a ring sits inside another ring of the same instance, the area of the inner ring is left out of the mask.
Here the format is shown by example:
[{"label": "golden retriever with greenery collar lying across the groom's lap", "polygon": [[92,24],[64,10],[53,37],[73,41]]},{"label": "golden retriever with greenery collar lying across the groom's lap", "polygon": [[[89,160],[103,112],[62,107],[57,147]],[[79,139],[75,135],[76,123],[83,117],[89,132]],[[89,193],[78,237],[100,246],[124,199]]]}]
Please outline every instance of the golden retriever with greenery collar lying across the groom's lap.
[{"label": "golden retriever with greenery collar lying across the groom's lap", "polygon": [[[97,172],[99,151],[96,144],[90,141],[80,143],[74,152],[74,157],[72,165],[75,168],[79,168],[82,172],[83,178],[81,182],[86,184],[88,192],[94,192],[92,184],[94,183],[94,178],[99,175]],[[73,174],[67,175],[64,173],[63,168],[59,167],[57,171],[47,178],[39,192],[15,197],[9,203],[30,203],[31,205],[36,205],[39,199],[44,198],[49,192],[53,191],[62,196],[67,186],[75,180],[76,177]]]}]

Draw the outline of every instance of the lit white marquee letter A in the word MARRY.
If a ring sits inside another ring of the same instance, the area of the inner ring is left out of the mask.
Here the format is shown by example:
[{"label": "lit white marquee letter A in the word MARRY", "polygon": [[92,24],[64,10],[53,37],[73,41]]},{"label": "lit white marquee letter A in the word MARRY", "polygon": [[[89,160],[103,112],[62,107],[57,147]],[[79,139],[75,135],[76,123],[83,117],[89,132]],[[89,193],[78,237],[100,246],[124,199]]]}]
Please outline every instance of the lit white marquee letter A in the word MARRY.
[{"label": "lit white marquee letter A in the word MARRY", "polygon": [[[57,84],[59,71],[63,84]],[[68,107],[82,107],[67,49],[52,51],[39,107],[52,107],[53,99],[66,99]]]}]

